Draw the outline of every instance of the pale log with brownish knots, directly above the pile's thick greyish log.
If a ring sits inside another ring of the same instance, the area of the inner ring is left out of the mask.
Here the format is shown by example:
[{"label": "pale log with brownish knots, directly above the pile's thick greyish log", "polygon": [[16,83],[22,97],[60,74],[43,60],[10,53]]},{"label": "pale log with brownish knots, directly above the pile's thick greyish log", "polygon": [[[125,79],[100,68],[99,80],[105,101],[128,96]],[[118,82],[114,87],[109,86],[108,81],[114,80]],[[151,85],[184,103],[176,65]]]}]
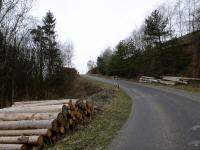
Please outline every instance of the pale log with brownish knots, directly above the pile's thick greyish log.
[{"label": "pale log with brownish knots, directly above the pile's thick greyish log", "polygon": [[0,121],[62,119],[62,113],[0,113]]}]

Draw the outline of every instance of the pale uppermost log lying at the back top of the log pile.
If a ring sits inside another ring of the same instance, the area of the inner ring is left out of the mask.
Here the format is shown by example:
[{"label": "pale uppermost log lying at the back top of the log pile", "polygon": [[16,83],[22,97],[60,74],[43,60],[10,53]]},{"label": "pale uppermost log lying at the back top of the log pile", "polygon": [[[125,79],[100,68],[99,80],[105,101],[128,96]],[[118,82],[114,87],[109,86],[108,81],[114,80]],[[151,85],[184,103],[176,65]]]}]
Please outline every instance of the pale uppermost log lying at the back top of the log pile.
[{"label": "pale uppermost log lying at the back top of the log pile", "polygon": [[45,101],[26,101],[26,102],[15,102],[13,106],[24,106],[24,105],[32,105],[32,106],[46,106],[46,105],[61,105],[67,104],[70,101],[76,103],[78,99],[63,99],[63,100],[45,100]]}]

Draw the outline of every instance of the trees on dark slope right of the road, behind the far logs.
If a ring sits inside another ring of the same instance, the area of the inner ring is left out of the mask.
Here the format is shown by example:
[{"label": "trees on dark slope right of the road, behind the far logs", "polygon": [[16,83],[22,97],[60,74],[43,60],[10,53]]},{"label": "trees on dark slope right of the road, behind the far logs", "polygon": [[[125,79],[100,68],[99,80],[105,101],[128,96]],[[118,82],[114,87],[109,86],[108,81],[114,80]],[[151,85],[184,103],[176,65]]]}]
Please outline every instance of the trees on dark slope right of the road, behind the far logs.
[{"label": "trees on dark slope right of the road, behind the far logs", "polygon": [[[176,0],[154,10],[139,30],[107,48],[89,73],[200,76],[200,1]],[[189,37],[189,38],[188,38]]]}]

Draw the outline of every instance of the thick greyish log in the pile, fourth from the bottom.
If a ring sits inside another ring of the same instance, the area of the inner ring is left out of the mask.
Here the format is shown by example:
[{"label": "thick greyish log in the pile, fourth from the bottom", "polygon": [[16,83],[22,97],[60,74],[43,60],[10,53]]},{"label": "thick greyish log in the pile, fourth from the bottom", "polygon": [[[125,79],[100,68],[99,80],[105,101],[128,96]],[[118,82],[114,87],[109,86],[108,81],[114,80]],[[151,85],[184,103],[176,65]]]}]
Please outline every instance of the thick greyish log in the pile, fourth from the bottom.
[{"label": "thick greyish log in the pile, fourth from the bottom", "polygon": [[22,120],[0,122],[0,130],[53,129],[56,120]]}]

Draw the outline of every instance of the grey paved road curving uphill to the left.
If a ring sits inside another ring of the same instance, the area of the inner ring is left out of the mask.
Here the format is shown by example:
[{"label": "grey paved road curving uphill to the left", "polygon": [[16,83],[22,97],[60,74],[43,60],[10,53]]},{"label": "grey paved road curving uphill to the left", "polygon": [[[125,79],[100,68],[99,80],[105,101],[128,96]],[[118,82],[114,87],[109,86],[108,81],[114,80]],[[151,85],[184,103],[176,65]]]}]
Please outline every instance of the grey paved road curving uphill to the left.
[{"label": "grey paved road curving uphill to the left", "polygon": [[200,95],[123,80],[118,82],[132,97],[133,109],[109,149],[200,150]]}]

